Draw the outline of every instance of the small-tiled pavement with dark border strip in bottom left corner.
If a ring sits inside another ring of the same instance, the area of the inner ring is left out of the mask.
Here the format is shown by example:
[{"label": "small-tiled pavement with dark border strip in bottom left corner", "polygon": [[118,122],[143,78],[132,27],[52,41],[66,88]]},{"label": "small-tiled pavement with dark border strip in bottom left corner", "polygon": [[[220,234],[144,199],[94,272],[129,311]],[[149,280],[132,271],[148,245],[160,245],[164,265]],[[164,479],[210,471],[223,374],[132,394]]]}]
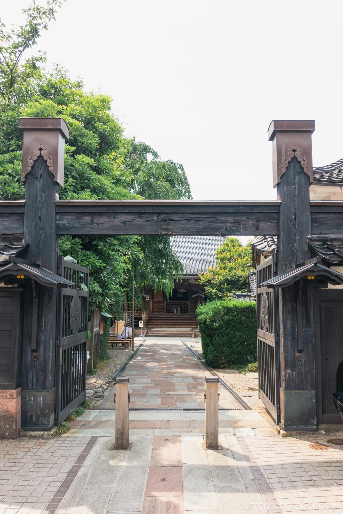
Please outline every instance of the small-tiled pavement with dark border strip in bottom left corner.
[{"label": "small-tiled pavement with dark border strip in bottom left corner", "polygon": [[53,514],[96,440],[0,440],[0,514]]}]

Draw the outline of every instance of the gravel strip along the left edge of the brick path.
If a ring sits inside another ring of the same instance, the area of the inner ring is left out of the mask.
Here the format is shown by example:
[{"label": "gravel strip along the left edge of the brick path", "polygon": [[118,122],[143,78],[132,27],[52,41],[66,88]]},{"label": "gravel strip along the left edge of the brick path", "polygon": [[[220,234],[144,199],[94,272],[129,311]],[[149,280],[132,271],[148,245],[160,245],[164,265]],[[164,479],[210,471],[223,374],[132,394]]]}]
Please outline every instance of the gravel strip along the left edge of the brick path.
[{"label": "gravel strip along the left edge of the brick path", "polygon": [[110,359],[99,362],[96,375],[87,375],[87,389],[96,389],[104,382],[112,380],[113,375],[128,360],[131,354],[131,347],[127,350],[124,349],[124,346],[110,347]]}]

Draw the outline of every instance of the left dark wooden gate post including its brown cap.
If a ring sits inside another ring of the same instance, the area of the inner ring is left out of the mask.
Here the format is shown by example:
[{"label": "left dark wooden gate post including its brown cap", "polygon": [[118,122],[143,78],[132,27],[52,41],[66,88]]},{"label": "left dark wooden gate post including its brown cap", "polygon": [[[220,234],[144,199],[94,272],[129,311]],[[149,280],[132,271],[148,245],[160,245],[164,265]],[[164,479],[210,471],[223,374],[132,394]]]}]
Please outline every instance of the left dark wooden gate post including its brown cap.
[{"label": "left dark wooden gate post including its brown cap", "polygon": [[[25,180],[25,259],[58,272],[55,200],[63,186],[64,140],[61,118],[21,118]],[[32,289],[25,292],[21,362],[22,427],[49,430],[55,420],[57,291],[39,286],[37,332],[32,331]],[[37,333],[35,341],[31,333]]]}]

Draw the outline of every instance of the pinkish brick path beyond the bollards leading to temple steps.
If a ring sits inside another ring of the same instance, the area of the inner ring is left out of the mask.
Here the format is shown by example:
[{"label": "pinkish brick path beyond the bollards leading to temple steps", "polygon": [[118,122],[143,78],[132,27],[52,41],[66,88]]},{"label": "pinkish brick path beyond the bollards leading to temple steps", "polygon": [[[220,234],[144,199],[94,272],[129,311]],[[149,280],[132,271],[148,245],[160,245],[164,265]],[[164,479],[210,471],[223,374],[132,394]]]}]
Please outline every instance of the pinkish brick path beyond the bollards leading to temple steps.
[{"label": "pinkish brick path beyond the bollards leading to temple steps", "polygon": [[[181,341],[147,340],[124,370],[130,378],[130,407],[204,408],[205,375],[210,375]],[[220,407],[242,408],[220,386]],[[115,409],[114,392],[101,408]]]}]

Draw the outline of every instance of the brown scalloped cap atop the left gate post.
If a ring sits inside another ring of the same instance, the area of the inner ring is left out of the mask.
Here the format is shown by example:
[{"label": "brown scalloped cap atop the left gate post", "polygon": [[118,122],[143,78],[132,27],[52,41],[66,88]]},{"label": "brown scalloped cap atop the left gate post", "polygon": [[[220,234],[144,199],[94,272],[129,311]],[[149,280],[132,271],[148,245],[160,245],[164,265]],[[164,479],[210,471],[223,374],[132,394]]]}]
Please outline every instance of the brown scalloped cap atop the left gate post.
[{"label": "brown scalloped cap atop the left gate post", "polygon": [[23,131],[22,180],[41,155],[55,180],[63,186],[64,140],[69,135],[65,121],[62,118],[20,118],[19,127]]}]

